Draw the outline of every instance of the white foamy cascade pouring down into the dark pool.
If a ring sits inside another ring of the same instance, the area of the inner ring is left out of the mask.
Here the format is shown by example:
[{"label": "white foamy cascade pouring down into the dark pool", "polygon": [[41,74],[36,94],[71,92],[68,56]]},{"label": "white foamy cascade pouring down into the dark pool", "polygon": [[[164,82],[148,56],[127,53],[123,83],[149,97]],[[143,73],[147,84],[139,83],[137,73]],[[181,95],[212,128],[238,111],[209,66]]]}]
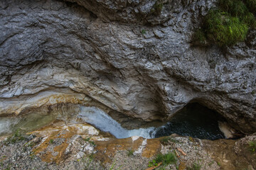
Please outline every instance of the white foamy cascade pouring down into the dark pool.
[{"label": "white foamy cascade pouring down into the dark pool", "polygon": [[156,128],[139,128],[136,130],[127,130],[117,123],[116,120],[112,119],[110,115],[107,115],[104,111],[95,107],[80,107],[79,118],[82,118],[86,123],[94,125],[96,128],[104,132],[110,132],[117,138],[127,138],[132,136],[140,136],[146,139],[154,138]]}]

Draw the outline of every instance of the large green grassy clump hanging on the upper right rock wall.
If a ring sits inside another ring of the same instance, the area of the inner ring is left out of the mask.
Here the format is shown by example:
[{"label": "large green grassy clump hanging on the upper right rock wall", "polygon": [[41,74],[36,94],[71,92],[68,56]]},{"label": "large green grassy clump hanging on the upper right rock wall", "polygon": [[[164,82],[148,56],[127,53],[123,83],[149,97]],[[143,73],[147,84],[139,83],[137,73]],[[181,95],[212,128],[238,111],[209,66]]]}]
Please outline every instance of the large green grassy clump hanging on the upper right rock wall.
[{"label": "large green grassy clump hanging on the upper right rock wall", "polygon": [[210,9],[195,30],[193,42],[224,47],[245,40],[249,28],[256,28],[255,4],[256,0],[218,0],[218,8]]}]

